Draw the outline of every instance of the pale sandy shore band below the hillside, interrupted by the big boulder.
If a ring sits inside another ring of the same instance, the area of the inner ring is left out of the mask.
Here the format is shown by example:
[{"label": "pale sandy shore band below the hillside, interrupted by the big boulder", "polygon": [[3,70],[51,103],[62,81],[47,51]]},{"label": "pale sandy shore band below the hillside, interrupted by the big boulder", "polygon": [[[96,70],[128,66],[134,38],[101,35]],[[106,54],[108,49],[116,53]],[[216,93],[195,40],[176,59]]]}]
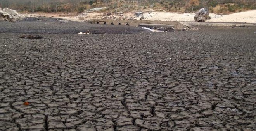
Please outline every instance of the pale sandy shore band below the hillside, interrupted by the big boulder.
[{"label": "pale sandy shore band below the hillside, interrupted by the big boulder", "polygon": [[[144,16],[143,20],[158,20],[158,21],[178,21],[178,22],[194,22],[195,13],[170,13],[170,12],[145,12],[140,17],[135,17],[134,13],[97,13],[88,12],[76,16],[75,14],[60,14],[60,13],[29,13],[24,14],[26,17],[54,17],[64,18],[72,21],[90,20],[90,19],[133,19],[139,20]],[[233,13],[229,15],[219,15],[210,13],[211,20],[207,22],[245,22],[256,23],[256,10],[247,12]]]}]

